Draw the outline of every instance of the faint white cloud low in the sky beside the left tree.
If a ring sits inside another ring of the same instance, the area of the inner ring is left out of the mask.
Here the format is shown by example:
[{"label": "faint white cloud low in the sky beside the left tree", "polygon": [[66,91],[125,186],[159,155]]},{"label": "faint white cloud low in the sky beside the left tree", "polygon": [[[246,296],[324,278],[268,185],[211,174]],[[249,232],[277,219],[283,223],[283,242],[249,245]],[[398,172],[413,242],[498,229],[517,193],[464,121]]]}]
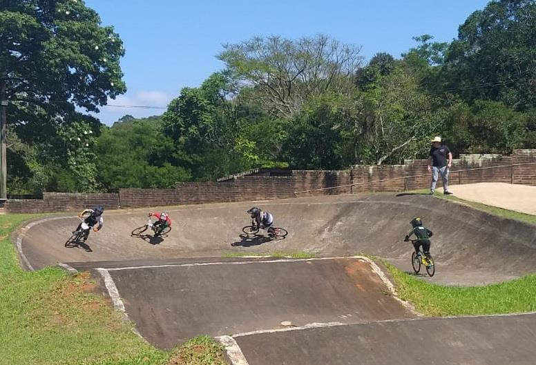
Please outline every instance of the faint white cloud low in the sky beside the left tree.
[{"label": "faint white cloud low in the sky beside the left tree", "polygon": [[[119,95],[108,100],[108,106],[100,108],[98,114],[93,114],[102,123],[111,126],[115,121],[124,115],[132,115],[135,118],[150,117],[151,115],[161,115],[166,111],[166,107],[173,99],[172,95],[158,90],[139,90],[125,95]],[[132,108],[133,106],[151,106],[161,108]]]}]

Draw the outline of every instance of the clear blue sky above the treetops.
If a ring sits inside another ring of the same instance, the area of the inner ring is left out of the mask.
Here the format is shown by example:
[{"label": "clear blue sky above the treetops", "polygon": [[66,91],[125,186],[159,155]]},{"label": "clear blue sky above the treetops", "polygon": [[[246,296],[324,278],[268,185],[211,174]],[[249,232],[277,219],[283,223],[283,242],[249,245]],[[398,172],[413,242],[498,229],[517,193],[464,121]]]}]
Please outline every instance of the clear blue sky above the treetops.
[{"label": "clear blue sky above the treetops", "polygon": [[[122,70],[128,91],[110,104],[166,106],[184,86],[199,86],[222,69],[216,59],[224,43],[256,35],[288,38],[327,34],[376,52],[400,57],[415,45],[412,37],[436,41],[457,37],[458,26],[488,0],[86,0],[105,26],[124,41]],[[113,4],[113,5],[112,5]],[[162,114],[164,110],[104,107],[97,115],[111,125],[119,117]]]}]

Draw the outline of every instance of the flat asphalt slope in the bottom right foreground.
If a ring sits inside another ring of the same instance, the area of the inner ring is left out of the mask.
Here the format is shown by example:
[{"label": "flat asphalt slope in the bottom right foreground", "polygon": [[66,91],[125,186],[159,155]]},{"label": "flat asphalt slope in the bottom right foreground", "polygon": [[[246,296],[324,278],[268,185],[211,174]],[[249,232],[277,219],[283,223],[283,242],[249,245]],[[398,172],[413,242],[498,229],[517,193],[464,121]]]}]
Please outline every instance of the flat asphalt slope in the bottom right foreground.
[{"label": "flat asphalt slope in the bottom right foreground", "polygon": [[536,315],[415,319],[233,338],[250,365],[534,365]]}]

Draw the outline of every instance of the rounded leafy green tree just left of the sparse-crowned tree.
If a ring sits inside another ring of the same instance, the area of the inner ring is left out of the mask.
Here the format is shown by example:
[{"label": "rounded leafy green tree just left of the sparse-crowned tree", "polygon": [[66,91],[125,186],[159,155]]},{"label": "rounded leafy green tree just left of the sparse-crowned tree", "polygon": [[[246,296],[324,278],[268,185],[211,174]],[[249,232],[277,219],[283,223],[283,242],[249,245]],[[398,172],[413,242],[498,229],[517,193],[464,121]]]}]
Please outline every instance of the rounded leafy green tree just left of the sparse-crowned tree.
[{"label": "rounded leafy green tree just left of the sparse-crowned tree", "polygon": [[229,77],[213,74],[200,88],[183,88],[162,117],[164,132],[195,179],[214,180],[260,164],[256,141],[242,132],[251,113],[229,90]]}]

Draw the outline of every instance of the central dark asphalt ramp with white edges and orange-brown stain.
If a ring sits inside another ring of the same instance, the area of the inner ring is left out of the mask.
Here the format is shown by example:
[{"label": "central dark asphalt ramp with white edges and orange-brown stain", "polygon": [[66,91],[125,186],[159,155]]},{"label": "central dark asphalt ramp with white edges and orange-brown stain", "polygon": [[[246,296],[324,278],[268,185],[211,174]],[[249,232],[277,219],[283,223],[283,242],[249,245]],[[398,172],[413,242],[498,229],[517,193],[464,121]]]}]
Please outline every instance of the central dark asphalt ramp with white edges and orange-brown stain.
[{"label": "central dark asphalt ramp with white edges and orange-brown stain", "polygon": [[106,272],[137,331],[162,348],[195,335],[281,328],[285,321],[306,326],[415,317],[392,296],[377,266],[361,258],[191,260]]}]

